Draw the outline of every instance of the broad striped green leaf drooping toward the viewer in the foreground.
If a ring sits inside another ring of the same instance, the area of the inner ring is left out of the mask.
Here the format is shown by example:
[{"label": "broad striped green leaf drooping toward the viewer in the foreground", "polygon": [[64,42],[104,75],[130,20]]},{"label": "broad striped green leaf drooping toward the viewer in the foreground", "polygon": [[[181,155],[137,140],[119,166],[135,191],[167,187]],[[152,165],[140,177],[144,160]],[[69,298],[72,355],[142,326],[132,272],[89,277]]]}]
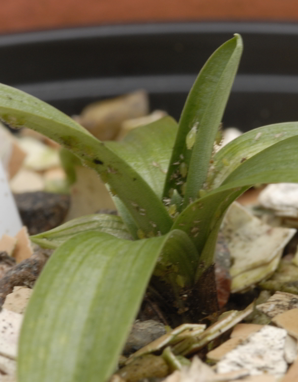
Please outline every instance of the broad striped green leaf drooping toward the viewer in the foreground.
[{"label": "broad striped green leaf drooping toward the viewer in the foreground", "polygon": [[[186,260],[185,240],[180,231],[137,241],[87,232],[62,244],[26,310],[19,382],[105,382],[116,368],[157,259],[170,247]],[[180,263],[175,265],[177,274]]]}]

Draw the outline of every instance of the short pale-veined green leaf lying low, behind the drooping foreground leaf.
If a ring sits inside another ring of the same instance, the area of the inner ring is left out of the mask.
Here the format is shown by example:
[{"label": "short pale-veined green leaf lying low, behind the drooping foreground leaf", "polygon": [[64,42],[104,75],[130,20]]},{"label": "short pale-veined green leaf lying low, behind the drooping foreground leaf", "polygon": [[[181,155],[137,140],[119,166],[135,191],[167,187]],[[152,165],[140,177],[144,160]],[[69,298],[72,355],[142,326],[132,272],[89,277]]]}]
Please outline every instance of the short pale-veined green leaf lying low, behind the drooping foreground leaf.
[{"label": "short pale-veined green leaf lying low, behind the drooping foreground leaf", "polygon": [[43,248],[56,249],[71,237],[87,231],[106,232],[120,239],[131,239],[121,217],[105,213],[78,217],[50,231],[31,236],[30,239]]}]

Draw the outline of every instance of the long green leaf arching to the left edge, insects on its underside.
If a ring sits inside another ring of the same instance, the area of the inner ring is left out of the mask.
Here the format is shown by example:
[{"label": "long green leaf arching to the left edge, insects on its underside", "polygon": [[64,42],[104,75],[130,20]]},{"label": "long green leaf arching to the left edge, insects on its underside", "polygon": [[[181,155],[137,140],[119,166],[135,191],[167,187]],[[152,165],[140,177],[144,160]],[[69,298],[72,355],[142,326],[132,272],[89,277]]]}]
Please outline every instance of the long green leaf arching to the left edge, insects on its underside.
[{"label": "long green leaf arching to the left edge, insects on its underside", "polygon": [[[47,135],[95,169],[145,234],[166,233],[170,229],[172,221],[166,208],[143,178],[105,143],[65,114],[20,90],[0,85],[0,118],[11,126],[26,126]],[[145,210],[145,215],[140,214],[140,209]],[[157,227],[153,229],[150,221]]]}]

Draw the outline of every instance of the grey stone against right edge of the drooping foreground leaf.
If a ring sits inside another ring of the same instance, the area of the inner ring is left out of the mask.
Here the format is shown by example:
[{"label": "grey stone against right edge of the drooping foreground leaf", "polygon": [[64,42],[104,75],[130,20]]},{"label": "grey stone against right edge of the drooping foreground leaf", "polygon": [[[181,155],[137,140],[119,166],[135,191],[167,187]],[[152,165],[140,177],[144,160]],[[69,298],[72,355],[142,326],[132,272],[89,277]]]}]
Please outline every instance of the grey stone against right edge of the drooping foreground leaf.
[{"label": "grey stone against right edge of the drooping foreground leaf", "polygon": [[129,354],[139,350],[165,333],[165,326],[160,322],[154,320],[136,321],[126,341],[123,354],[129,356]]}]

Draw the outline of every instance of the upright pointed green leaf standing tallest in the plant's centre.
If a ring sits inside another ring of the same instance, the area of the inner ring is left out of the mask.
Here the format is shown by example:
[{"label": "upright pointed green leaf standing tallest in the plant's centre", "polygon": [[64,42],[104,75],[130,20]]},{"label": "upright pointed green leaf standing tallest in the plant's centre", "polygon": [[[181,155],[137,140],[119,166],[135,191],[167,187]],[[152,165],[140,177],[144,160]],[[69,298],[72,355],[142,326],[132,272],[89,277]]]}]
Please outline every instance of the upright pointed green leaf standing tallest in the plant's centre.
[{"label": "upright pointed green leaf standing tallest in the plant's centre", "polygon": [[[168,196],[169,188],[176,188],[180,193],[182,192],[182,184],[177,182],[184,182],[178,172],[181,162],[184,161],[188,168],[188,175],[183,207],[189,204],[190,198],[196,199],[198,190],[203,188],[215,137],[241,53],[242,39],[241,36],[235,35],[208,59],[187,98],[179,122],[164,190],[165,197]],[[189,134],[192,129],[197,129],[197,132],[192,138],[193,148],[190,148],[191,144],[188,142],[187,145],[186,141],[190,140]],[[178,177],[175,177],[175,174]]]}]

